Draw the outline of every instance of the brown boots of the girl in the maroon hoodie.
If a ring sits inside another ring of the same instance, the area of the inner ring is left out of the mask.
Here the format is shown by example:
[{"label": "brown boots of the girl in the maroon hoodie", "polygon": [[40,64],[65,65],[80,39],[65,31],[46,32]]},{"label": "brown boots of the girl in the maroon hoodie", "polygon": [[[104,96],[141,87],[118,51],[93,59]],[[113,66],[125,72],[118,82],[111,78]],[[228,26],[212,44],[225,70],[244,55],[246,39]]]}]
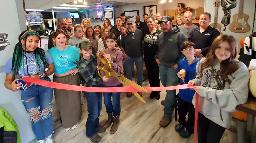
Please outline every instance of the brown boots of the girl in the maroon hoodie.
[{"label": "brown boots of the girl in the maroon hoodie", "polygon": [[[120,114],[119,114],[119,115],[120,115]],[[109,133],[111,133],[111,134],[114,134],[114,133],[117,131],[117,129],[118,129],[118,125],[119,125],[119,115],[117,115],[116,117],[114,117],[112,113],[109,113],[109,114],[108,114],[108,120],[107,120],[106,123],[103,125],[103,127],[108,128],[108,127],[111,125],[111,123],[113,122],[113,125],[112,125],[112,127],[111,127],[111,129],[110,129],[110,132],[109,132]]]}]

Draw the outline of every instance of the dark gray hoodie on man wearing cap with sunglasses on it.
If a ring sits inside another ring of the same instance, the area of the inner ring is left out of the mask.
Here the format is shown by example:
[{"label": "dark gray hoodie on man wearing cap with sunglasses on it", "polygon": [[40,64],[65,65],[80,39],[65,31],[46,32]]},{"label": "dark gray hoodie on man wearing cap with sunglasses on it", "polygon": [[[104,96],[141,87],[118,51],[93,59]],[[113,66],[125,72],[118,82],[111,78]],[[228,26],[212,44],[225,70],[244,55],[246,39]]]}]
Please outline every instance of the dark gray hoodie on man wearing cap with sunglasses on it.
[{"label": "dark gray hoodie on man wearing cap with sunglasses on it", "polygon": [[180,50],[180,44],[188,41],[187,36],[180,31],[177,25],[172,25],[172,28],[171,32],[160,33],[156,42],[158,51],[156,52],[155,59],[159,59],[164,67],[178,64],[178,61],[184,57]]}]

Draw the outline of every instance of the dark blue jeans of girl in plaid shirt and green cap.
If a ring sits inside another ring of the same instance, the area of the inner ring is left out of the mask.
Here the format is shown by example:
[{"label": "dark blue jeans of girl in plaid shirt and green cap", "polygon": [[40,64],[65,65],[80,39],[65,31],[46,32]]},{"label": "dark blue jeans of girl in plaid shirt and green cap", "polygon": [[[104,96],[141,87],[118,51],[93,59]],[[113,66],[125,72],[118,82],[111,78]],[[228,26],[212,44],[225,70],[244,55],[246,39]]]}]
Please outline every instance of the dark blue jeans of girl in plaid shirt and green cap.
[{"label": "dark blue jeans of girl in plaid shirt and green cap", "polygon": [[102,109],[102,93],[101,92],[84,92],[87,100],[88,117],[85,124],[86,136],[92,137],[96,133],[99,126],[99,116]]}]

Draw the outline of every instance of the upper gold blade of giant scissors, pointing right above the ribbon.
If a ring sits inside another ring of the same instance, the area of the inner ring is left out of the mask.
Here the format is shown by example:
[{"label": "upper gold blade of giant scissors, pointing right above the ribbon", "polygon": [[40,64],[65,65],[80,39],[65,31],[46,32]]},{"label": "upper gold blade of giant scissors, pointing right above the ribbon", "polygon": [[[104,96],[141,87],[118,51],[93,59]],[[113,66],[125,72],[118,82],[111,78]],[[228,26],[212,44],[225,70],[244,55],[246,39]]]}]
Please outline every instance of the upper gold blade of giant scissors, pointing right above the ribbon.
[{"label": "upper gold blade of giant scissors, pointing right above the ribbon", "polygon": [[132,86],[136,89],[140,89],[143,92],[148,92],[148,90],[144,89],[143,87],[141,87],[140,85],[138,85],[137,83],[132,82],[131,80],[129,80],[128,78],[124,77],[123,75],[117,74],[115,71],[110,72],[111,76],[114,76],[119,82],[121,82],[124,86]]}]

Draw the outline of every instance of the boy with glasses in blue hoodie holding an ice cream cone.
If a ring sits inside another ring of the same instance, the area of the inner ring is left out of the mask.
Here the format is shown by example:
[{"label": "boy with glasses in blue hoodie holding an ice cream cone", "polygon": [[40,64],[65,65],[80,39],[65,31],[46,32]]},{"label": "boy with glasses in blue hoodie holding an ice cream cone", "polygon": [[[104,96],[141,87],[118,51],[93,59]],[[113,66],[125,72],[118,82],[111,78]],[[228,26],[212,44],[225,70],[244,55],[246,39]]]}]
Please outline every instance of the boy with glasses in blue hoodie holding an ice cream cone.
[{"label": "boy with glasses in blue hoodie holding an ice cream cone", "polygon": [[[180,45],[182,54],[185,55],[178,63],[177,76],[180,78],[180,85],[187,84],[189,80],[196,77],[196,64],[200,61],[194,54],[195,44],[192,42],[183,42]],[[185,71],[182,74],[181,71]],[[195,108],[192,104],[192,99],[195,94],[194,90],[190,89],[180,89],[179,99],[178,99],[178,114],[179,114],[179,124],[175,126],[175,131],[179,132],[180,136],[183,138],[188,138],[194,129],[194,117]],[[186,115],[188,113],[188,121],[186,122]]]}]

